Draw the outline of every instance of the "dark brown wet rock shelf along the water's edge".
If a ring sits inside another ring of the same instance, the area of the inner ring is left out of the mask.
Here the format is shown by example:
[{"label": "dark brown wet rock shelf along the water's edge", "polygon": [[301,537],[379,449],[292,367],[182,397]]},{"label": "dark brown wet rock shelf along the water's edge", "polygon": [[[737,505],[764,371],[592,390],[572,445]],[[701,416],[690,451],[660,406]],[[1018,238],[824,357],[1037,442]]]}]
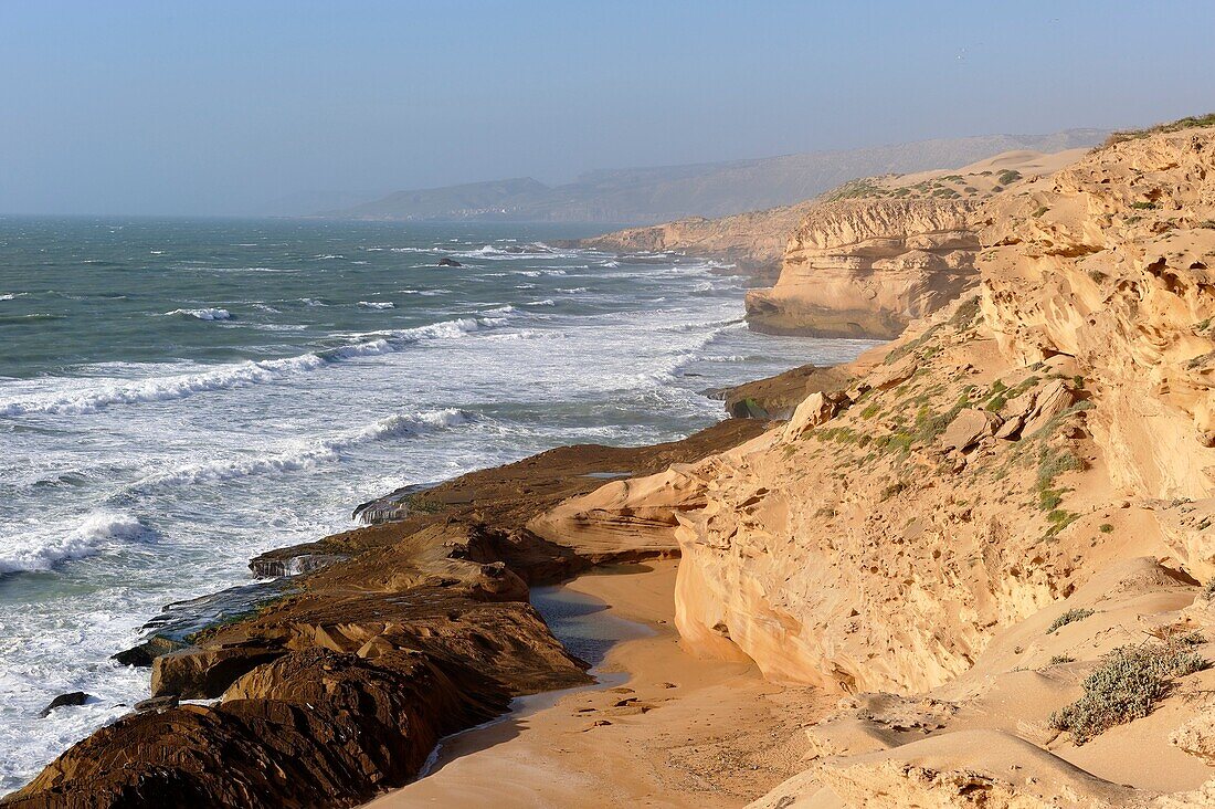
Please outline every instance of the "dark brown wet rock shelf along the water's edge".
[{"label": "dark brown wet rock shelf along the water's edge", "polygon": [[535,518],[764,427],[727,420],[651,446],[563,446],[364,504],[356,513],[371,524],[250,562],[281,578],[170,605],[143,644],[115,656],[151,665],[145,709],[0,804],[344,807],[401,786],[440,737],[513,697],[590,681],[529,586],[671,554],[558,545],[529,527]]}]

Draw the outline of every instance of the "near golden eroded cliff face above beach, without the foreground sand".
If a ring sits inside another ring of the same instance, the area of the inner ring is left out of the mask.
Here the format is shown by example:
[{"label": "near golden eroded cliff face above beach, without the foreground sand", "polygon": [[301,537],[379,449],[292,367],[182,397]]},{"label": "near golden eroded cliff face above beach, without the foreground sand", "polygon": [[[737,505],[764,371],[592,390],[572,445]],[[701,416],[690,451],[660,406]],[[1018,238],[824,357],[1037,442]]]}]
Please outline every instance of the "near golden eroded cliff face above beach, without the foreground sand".
[{"label": "near golden eroded cliff face above beach, without the foreground sand", "polygon": [[[689,473],[706,491],[676,532],[689,642],[779,679],[921,691],[1106,562],[1215,572],[1213,178],[1198,130],[993,198],[978,305]],[[820,230],[806,242],[872,232]]]}]

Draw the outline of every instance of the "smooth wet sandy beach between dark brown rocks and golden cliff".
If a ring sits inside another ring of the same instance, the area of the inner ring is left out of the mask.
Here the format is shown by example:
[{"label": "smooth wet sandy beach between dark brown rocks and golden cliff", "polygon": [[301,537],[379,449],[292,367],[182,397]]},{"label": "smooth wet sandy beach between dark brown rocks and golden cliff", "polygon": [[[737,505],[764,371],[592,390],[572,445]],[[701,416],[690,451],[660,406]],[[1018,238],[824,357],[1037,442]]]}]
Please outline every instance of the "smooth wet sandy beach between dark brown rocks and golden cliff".
[{"label": "smooth wet sandy beach between dark brown rocks and golden cliff", "polygon": [[566,585],[652,631],[617,644],[595,670],[623,684],[532,697],[548,704],[445,740],[425,777],[369,805],[741,807],[802,769],[801,727],[836,698],[684,651],[677,564]]}]

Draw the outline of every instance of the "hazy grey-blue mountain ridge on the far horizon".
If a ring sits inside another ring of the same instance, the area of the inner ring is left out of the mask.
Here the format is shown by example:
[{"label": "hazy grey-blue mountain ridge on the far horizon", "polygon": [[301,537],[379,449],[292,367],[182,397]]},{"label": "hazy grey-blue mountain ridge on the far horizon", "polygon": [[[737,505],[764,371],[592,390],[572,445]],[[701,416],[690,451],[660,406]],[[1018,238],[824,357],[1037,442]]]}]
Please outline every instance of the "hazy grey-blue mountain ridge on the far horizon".
[{"label": "hazy grey-blue mountain ridge on the far horizon", "polygon": [[567,221],[654,224],[727,217],[809,200],[848,180],[962,165],[1016,150],[1058,152],[1102,141],[1104,130],[1051,135],[979,135],[652,168],[598,169],[548,186],[531,178],[397,191],[315,215],[402,221]]}]

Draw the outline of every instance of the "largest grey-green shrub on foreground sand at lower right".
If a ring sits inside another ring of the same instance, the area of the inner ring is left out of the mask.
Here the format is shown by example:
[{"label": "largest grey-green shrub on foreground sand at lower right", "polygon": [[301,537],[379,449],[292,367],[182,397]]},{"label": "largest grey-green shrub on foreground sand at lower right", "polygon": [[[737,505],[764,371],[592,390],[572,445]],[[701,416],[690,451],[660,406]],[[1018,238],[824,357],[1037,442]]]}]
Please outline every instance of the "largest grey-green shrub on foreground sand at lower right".
[{"label": "largest grey-green shrub on foreground sand at lower right", "polygon": [[1083,697],[1051,714],[1051,727],[1072,734],[1075,745],[1084,745],[1114,725],[1147,717],[1172,689],[1171,678],[1208,665],[1209,661],[1175,640],[1120,646],[1085,679]]}]

